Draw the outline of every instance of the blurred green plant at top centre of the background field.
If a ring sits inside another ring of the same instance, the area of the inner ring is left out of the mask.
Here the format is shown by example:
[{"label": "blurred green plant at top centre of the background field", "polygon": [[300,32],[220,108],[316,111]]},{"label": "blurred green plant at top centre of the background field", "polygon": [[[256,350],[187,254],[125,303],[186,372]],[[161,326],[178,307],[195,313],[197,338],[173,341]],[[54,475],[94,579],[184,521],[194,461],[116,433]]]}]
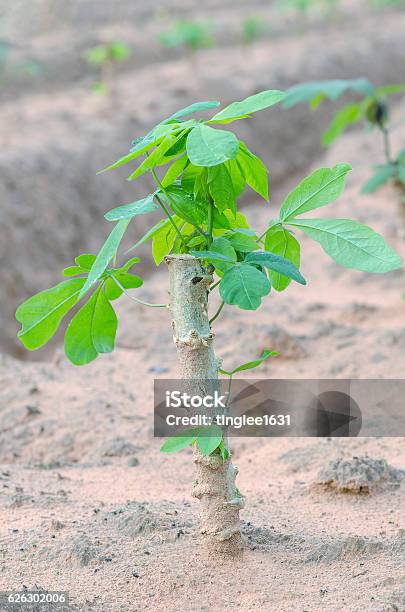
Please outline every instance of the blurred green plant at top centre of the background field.
[{"label": "blurred green plant at top centre of the background field", "polygon": [[169,31],[159,34],[159,41],[167,48],[184,47],[194,54],[214,46],[213,29],[207,22],[178,19]]}]

